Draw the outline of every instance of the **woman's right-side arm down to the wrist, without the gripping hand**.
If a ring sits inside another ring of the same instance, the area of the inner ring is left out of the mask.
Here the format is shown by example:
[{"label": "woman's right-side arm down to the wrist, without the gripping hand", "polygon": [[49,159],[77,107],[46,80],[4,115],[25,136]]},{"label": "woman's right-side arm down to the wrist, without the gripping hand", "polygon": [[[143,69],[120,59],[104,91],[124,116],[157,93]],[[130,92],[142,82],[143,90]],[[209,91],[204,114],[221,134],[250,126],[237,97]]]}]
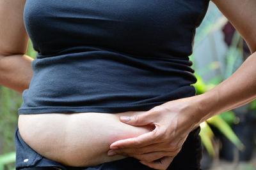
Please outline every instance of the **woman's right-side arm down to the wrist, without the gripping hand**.
[{"label": "woman's right-side arm down to the wrist, without the gripping hand", "polygon": [[[196,98],[198,117],[204,122],[214,115],[232,110],[256,98],[256,1],[214,0],[220,11],[236,27],[250,47],[252,55],[227,80]],[[207,106],[207,107],[205,107]],[[216,107],[218,106],[218,107]]]}]

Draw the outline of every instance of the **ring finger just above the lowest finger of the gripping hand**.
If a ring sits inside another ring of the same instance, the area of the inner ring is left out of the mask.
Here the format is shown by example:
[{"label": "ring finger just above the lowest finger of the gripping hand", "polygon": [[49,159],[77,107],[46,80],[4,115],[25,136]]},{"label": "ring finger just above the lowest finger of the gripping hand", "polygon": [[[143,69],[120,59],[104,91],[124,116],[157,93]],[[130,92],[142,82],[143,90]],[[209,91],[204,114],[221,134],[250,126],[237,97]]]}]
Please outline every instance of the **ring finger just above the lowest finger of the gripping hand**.
[{"label": "ring finger just above the lowest finger of the gripping hand", "polygon": [[145,161],[145,162],[153,162],[153,161],[156,161],[156,160],[161,159],[163,157],[171,157],[171,156],[174,157],[174,156],[176,156],[176,154],[172,153],[172,152],[162,151],[162,152],[145,153],[143,155],[127,154],[125,156],[134,157],[135,159],[142,160],[142,161]]}]

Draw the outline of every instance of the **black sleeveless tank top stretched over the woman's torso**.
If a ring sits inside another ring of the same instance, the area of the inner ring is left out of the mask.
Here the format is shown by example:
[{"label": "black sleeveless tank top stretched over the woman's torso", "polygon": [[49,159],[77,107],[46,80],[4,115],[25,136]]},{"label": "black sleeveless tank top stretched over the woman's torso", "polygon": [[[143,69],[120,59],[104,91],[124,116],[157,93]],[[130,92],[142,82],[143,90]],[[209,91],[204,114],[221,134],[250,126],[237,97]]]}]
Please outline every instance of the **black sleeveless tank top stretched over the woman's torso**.
[{"label": "black sleeveless tank top stretched over the woman's torso", "polygon": [[33,78],[20,114],[149,110],[195,95],[208,0],[27,0]]}]

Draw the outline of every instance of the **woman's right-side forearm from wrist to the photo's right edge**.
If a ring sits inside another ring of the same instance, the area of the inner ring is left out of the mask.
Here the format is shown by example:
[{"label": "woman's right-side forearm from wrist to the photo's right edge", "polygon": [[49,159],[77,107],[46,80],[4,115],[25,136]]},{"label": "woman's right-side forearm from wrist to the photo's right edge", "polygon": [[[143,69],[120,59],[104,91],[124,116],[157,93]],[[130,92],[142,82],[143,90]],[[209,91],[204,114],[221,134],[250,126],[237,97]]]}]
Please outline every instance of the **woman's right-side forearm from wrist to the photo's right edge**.
[{"label": "woman's right-side forearm from wrist to the photo's right edge", "polygon": [[256,98],[256,52],[227,80],[191,100],[198,105],[196,117],[204,122],[214,115],[232,110]]}]

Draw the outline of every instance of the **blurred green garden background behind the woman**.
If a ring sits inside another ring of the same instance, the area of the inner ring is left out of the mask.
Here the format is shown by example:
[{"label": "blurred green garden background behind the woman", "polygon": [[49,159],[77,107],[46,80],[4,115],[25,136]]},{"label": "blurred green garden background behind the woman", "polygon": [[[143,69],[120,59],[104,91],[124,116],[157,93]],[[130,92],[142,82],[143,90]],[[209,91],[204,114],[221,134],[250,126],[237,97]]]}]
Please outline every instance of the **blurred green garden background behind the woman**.
[{"label": "blurred green garden background behind the woman", "polygon": [[[27,55],[36,57],[31,41]],[[243,38],[210,3],[204,21],[196,29],[190,56],[198,78],[196,94],[228,78],[248,55],[250,50]],[[0,86],[0,170],[15,169],[13,136],[21,103],[20,94]],[[212,117],[200,126],[202,170],[256,169],[256,101]]]}]

